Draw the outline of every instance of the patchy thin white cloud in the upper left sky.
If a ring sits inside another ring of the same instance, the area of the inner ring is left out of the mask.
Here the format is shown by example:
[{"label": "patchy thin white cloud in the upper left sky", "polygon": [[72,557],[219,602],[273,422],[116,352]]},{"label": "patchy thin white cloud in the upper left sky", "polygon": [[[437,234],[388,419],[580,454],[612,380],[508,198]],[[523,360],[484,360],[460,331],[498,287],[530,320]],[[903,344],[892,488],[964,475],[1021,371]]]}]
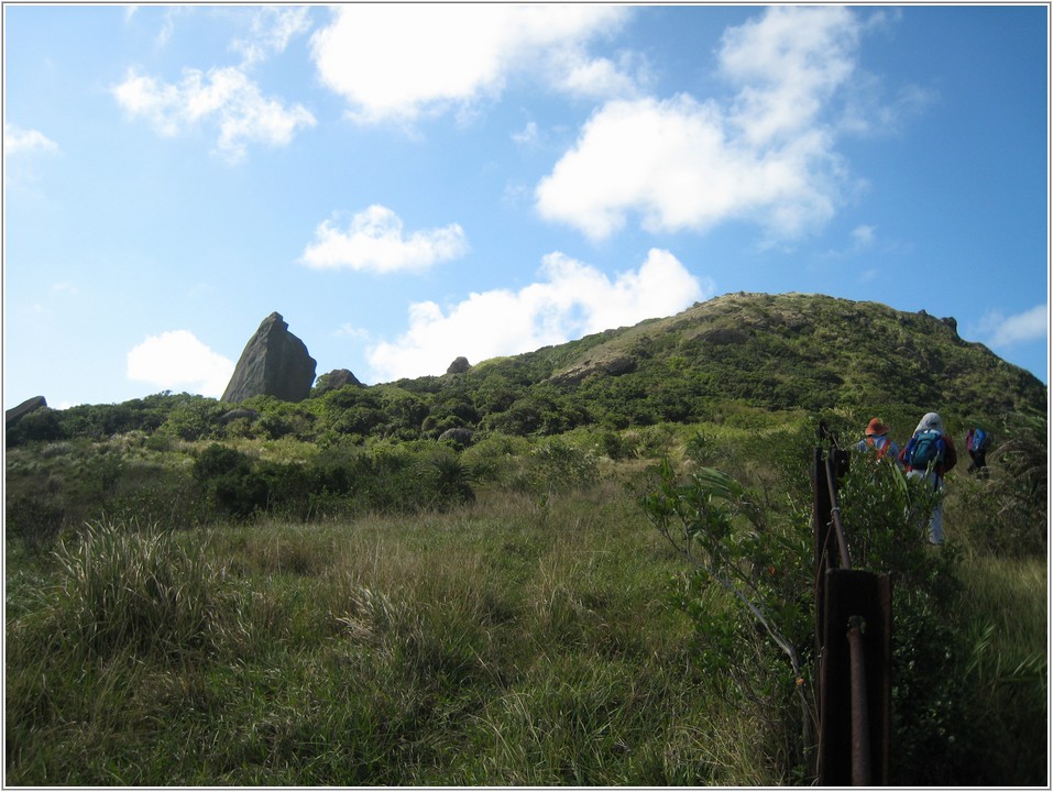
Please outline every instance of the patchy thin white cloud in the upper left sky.
[{"label": "patchy thin white cloud in the upper left sky", "polygon": [[219,130],[217,150],[238,161],[248,143],[284,146],[297,131],[315,125],[315,117],[301,105],[285,107],[264,97],[259,86],[239,68],[212,68],[207,73],[184,69],[178,85],[158,82],[130,69],[113,96],[132,118],[144,118],[160,134],[176,135],[198,124]]}]

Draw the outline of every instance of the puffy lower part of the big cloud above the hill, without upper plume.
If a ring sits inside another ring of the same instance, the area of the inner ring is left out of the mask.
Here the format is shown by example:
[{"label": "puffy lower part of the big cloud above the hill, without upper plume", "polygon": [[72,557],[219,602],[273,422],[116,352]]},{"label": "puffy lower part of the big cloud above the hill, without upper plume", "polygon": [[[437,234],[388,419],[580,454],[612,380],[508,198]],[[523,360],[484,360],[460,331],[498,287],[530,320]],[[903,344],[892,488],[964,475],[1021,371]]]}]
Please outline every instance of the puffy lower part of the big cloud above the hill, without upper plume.
[{"label": "puffy lower part of the big cloud above the hill, without upper plume", "polygon": [[781,151],[743,145],[713,105],[685,95],[616,101],[593,116],[535,195],[542,217],[593,239],[619,230],[630,211],[651,232],[757,218],[792,237],[833,215],[831,186],[812,170],[826,157],[822,133]]}]

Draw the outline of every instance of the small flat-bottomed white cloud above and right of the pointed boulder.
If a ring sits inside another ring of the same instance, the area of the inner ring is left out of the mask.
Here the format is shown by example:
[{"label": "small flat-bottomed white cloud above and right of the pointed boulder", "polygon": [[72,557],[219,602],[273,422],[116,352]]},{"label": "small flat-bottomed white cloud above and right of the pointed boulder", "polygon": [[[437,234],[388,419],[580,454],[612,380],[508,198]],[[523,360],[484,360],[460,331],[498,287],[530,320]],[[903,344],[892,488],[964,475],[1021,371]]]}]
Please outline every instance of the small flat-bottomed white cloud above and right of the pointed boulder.
[{"label": "small flat-bottomed white cloud above and right of the pointed boulder", "polygon": [[300,263],[315,270],[392,273],[427,270],[467,252],[468,238],[457,223],[414,231],[407,237],[394,211],[374,205],[351,218],[345,231],[334,228],[329,220],[322,221]]}]

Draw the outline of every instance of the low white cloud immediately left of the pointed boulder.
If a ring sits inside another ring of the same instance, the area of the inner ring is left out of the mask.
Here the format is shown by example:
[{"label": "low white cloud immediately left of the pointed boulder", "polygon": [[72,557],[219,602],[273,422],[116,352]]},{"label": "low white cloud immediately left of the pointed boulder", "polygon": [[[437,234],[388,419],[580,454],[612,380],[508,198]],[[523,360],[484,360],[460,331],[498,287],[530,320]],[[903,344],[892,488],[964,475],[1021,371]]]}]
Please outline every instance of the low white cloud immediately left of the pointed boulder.
[{"label": "low white cloud immediately left of the pointed boulder", "polygon": [[128,353],[127,376],[165,391],[185,389],[219,398],[234,363],[212,352],[188,330],[149,336]]}]

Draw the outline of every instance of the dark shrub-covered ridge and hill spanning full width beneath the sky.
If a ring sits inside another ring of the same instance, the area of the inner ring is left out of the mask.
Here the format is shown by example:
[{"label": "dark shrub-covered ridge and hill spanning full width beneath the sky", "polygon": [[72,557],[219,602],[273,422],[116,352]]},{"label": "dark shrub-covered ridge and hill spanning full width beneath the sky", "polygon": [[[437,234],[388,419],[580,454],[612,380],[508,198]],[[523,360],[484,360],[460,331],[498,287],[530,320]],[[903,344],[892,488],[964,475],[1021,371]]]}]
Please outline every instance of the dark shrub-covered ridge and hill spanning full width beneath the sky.
[{"label": "dark shrub-covered ridge and hill spanning full width beneath the sky", "polygon": [[254,397],[243,406],[259,420],[221,421],[230,405],[185,394],[45,408],[8,432],[8,447],[157,429],[185,440],[413,440],[457,427],[555,435],[714,420],[744,405],[885,411],[900,424],[934,409],[1000,422],[1012,413],[1044,414],[1046,387],[962,340],[953,319],[821,295],[734,294],[459,374],[316,389],[295,405]]}]

